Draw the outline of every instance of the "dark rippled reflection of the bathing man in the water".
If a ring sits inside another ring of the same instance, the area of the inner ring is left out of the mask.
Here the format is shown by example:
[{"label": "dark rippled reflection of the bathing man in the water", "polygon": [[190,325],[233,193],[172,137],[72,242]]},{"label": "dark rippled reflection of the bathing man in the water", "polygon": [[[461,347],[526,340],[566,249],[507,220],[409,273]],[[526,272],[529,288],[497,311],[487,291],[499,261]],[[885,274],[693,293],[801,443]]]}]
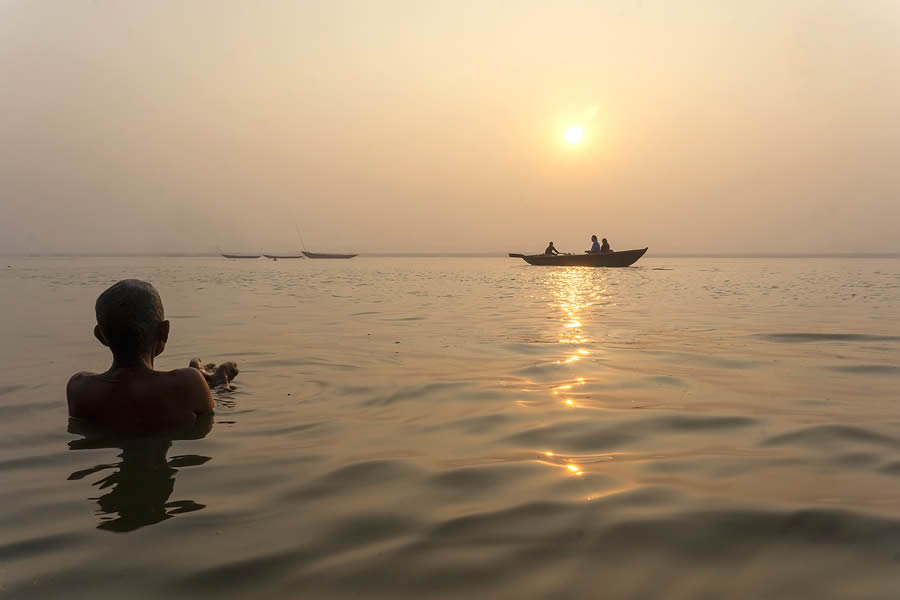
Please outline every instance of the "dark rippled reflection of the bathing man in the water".
[{"label": "dark rippled reflection of the bathing man in the water", "polygon": [[94,482],[100,490],[108,490],[96,500],[100,505],[98,529],[107,531],[133,531],[153,525],[177,514],[205,508],[193,500],[169,501],[175,488],[175,473],[180,467],[192,467],[206,463],[208,456],[182,455],[166,459],[166,453],[176,439],[200,439],[212,428],[212,419],[202,419],[189,430],[173,431],[167,435],[133,439],[99,435],[86,430],[82,423],[70,421],[69,432],[84,435],[69,442],[72,450],[117,448],[121,462],[101,464],[76,471],[69,480],[83,479],[106,469],[117,469]]}]

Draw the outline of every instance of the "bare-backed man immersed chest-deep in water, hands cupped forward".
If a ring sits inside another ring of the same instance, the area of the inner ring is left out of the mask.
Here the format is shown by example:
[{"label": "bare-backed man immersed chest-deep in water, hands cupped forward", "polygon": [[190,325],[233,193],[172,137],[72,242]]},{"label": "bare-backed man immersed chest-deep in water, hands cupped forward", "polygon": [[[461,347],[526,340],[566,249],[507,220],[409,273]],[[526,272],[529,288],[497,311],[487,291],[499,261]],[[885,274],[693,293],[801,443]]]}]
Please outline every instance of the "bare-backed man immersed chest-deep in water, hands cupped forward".
[{"label": "bare-backed man immersed chest-deep in water, hands cupped forward", "polygon": [[94,336],[112,351],[105,373],[76,373],[66,386],[69,416],[94,425],[152,431],[181,427],[215,409],[210,386],[225,385],[238,373],[226,362],[157,371],[153,359],[166,347],[169,322],[162,299],[145,281],[126,279],[104,291],[95,306]]}]

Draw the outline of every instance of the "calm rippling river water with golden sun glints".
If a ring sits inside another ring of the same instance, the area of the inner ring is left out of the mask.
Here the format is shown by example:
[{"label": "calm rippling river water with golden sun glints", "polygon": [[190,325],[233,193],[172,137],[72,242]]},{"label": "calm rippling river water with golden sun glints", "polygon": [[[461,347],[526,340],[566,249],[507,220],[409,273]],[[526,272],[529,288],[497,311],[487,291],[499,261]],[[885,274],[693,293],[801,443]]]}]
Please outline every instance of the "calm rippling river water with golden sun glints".
[{"label": "calm rippling river water with golden sun glints", "polygon": [[[2,598],[900,594],[900,260],[2,260]],[[213,423],[68,424],[126,277]]]}]

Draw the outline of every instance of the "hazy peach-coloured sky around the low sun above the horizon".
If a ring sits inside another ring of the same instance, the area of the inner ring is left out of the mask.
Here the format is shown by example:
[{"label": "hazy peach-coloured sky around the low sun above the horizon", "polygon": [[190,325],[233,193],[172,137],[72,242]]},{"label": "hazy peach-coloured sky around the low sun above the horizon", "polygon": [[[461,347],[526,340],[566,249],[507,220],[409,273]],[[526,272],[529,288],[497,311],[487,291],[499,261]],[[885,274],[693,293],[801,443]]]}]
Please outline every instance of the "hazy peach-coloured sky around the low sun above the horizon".
[{"label": "hazy peach-coloured sky around the low sun above the horizon", "polygon": [[900,2],[0,0],[0,252],[283,251],[295,225],[900,251]]}]

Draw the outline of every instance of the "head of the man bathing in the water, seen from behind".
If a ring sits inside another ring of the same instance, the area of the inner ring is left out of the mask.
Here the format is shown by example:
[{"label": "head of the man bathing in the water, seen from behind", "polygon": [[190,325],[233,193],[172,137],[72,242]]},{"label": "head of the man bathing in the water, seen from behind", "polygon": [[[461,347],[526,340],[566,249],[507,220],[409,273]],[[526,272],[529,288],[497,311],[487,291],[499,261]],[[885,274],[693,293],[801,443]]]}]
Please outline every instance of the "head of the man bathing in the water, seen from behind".
[{"label": "head of the man bathing in the water, seen from behind", "polygon": [[146,281],[124,279],[114,284],[97,298],[95,310],[97,338],[116,358],[134,360],[162,352],[168,337],[168,327],[161,326],[162,299]]}]

